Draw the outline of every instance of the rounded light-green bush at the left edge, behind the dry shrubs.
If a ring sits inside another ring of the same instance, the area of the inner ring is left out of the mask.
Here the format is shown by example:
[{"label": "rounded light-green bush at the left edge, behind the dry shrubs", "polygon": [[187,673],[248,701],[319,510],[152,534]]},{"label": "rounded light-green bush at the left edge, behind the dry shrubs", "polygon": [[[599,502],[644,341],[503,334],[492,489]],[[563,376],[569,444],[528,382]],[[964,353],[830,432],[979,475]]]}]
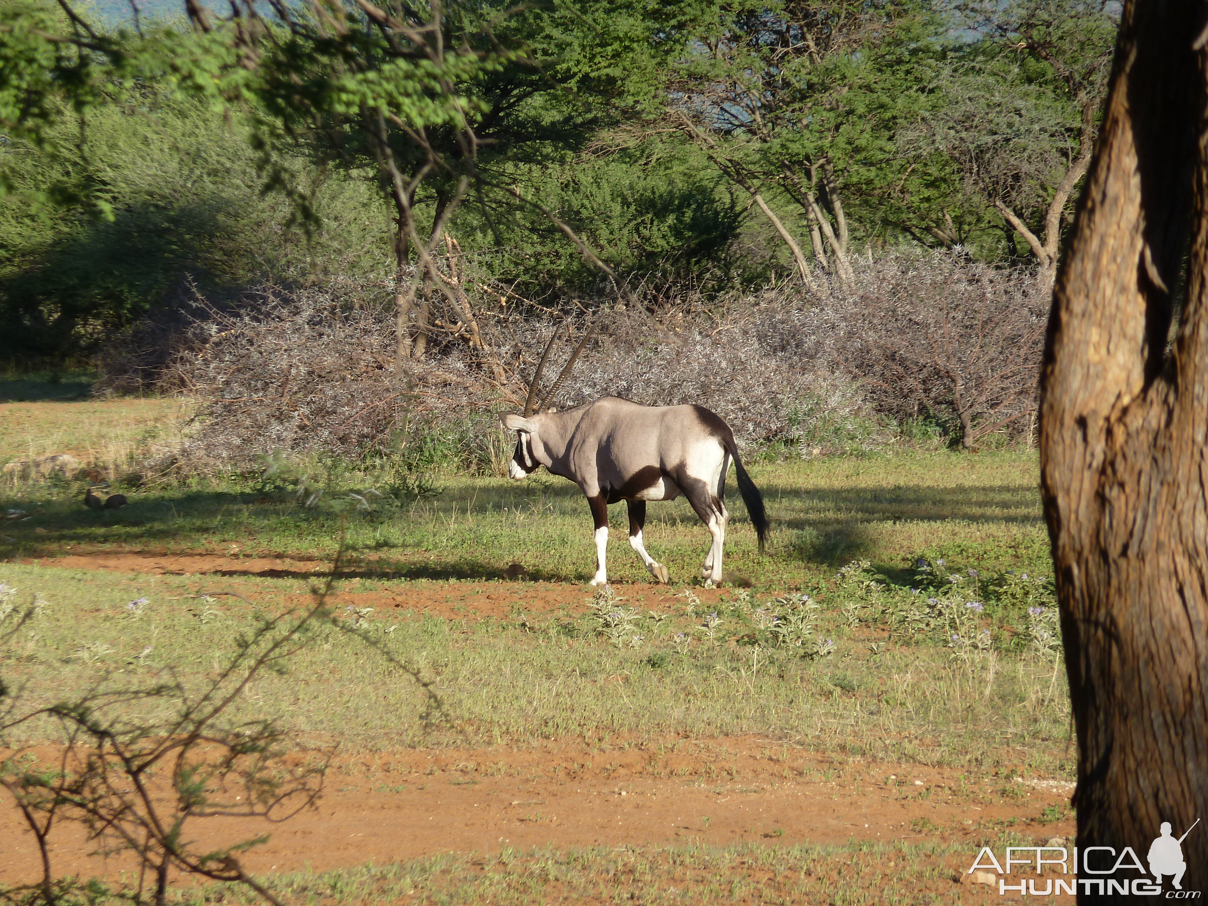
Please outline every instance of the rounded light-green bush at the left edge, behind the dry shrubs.
[{"label": "rounded light-green bush at the left edge, behind the dry shrubs", "polygon": [[[68,122],[46,129],[65,140]],[[29,141],[0,149],[16,175],[0,199],[0,350],[88,352],[134,319],[179,303],[193,288],[222,298],[265,277],[316,279],[372,273],[384,261],[381,203],[365,187],[314,174],[310,204],[327,228],[290,226],[279,194],[262,194],[246,126],[197,101],[144,92],[87,120],[87,162]],[[37,207],[30,199],[70,181],[108,205]]]}]

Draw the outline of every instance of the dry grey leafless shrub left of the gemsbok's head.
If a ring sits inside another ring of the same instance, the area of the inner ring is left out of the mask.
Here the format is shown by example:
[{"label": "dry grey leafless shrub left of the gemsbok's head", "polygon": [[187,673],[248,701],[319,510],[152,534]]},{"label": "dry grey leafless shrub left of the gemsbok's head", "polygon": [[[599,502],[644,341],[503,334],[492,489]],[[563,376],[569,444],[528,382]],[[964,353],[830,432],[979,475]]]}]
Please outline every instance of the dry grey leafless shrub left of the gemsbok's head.
[{"label": "dry grey leafless shrub left of the gemsbok's head", "polygon": [[408,418],[465,417],[500,396],[455,348],[396,367],[393,314],[352,285],[266,286],[238,309],[198,310],[161,376],[202,403],[178,454],[192,470],[249,469],[275,451],[360,460],[389,448]]}]

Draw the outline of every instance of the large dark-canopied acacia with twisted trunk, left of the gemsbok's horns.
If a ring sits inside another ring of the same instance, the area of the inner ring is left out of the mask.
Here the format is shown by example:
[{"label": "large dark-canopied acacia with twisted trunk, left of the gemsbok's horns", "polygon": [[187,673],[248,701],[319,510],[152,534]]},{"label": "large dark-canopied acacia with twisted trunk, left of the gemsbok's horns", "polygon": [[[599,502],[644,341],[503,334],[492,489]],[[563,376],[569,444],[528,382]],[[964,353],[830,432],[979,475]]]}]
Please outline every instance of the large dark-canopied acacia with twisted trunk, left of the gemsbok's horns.
[{"label": "large dark-canopied acacia with twisted trunk, left of the gemsbok's horns", "polygon": [[[233,0],[221,14],[186,0],[192,29],[185,33],[98,29],[75,0],[16,2],[16,12],[0,10],[0,129],[36,140],[59,111],[81,112],[110,101],[123,82],[151,79],[225,115],[240,111],[266,188],[289,196],[303,220],[318,222],[289,152],[302,146],[320,169],[367,175],[393,208],[400,366],[443,332],[476,349],[500,387],[509,377],[486,354],[447,231],[467,203],[492,230],[517,208],[545,216],[517,188],[516,165],[585,141],[651,56],[650,41],[637,40],[649,39],[651,27],[634,19],[631,0],[552,8]],[[83,141],[62,149],[66,157],[85,152]],[[0,170],[0,196],[13,182]],[[615,281],[576,231],[550,214]]]}]

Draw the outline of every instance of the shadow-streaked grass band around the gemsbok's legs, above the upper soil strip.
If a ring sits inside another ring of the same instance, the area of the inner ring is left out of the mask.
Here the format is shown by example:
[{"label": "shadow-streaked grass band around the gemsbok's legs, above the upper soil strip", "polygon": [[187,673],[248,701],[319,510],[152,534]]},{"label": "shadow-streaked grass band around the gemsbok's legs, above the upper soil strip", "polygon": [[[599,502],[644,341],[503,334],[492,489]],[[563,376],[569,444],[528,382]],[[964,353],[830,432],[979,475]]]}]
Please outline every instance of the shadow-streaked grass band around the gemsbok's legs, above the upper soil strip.
[{"label": "shadow-streaked grass band around the gemsbok's legs, above the upper soil strip", "polygon": [[[765,591],[803,587],[850,559],[881,570],[917,556],[946,557],[978,569],[1047,569],[1036,458],[1000,451],[982,455],[902,453],[751,469],[772,519],[767,556],[731,486],[733,513],[726,575]],[[127,490],[130,505],[95,513],[77,484],[31,484],[2,506],[33,518],[0,527],[0,557],[48,557],[80,550],[222,552],[308,559],[332,556],[337,510],[349,490],[384,489],[379,476],[345,472],[324,480],[324,495],[301,505],[294,488],[255,478]],[[647,581],[626,541],[625,507],[611,507],[610,577]],[[41,529],[41,532],[37,532]],[[699,582],[708,533],[683,499],[649,507],[646,547],[668,564],[673,582]],[[524,482],[447,478],[434,496],[385,498],[348,525],[354,558],[383,579],[494,579],[511,563],[533,579],[582,582],[594,571],[592,523],[579,489],[544,472]]]}]

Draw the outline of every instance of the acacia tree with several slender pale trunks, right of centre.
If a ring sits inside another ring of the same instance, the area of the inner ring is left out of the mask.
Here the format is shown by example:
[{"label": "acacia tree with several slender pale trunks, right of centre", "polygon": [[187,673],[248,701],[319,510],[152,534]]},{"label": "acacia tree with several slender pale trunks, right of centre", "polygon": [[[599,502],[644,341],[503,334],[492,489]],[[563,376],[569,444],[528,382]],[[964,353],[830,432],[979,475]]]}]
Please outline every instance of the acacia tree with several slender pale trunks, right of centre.
[{"label": "acacia tree with several slender pale trunks, right of centre", "polygon": [[917,58],[942,43],[936,22],[911,0],[745,0],[702,4],[680,25],[672,124],[750,196],[807,284],[805,240],[768,199],[798,209],[814,260],[850,283],[844,180],[893,156]]}]

